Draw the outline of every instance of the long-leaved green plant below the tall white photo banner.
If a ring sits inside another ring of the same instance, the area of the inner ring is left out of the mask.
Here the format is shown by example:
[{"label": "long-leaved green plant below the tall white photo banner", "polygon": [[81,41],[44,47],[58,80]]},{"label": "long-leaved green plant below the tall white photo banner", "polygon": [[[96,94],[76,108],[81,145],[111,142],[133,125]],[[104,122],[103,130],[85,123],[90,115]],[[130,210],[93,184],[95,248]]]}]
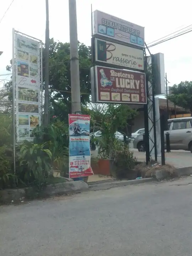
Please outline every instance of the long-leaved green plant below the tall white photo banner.
[{"label": "long-leaved green plant below the tall white photo banner", "polygon": [[18,177],[26,185],[40,185],[48,178],[51,170],[52,153],[47,143],[33,144],[25,140],[20,149],[20,169]]}]

